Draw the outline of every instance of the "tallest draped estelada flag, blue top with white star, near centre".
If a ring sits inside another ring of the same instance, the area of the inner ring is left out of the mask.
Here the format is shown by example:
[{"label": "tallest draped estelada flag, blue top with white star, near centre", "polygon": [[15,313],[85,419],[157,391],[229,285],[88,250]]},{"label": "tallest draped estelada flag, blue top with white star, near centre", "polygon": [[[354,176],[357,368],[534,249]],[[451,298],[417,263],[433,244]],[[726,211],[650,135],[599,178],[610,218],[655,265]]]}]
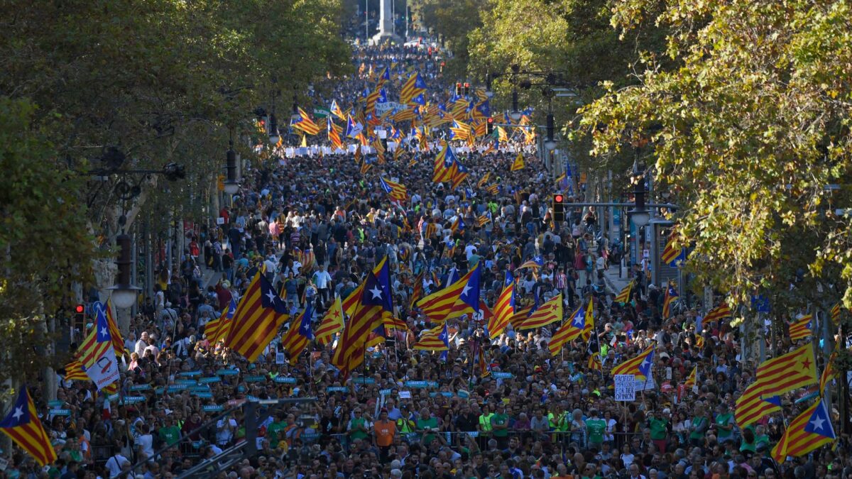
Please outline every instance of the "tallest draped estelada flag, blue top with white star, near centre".
[{"label": "tallest draped estelada flag, blue top with white star, near centre", "polygon": [[332,363],[349,372],[363,362],[364,350],[371,332],[383,330],[383,318],[394,314],[393,292],[390,288],[390,268],[384,257],[366,275],[352,318],[343,328]]}]

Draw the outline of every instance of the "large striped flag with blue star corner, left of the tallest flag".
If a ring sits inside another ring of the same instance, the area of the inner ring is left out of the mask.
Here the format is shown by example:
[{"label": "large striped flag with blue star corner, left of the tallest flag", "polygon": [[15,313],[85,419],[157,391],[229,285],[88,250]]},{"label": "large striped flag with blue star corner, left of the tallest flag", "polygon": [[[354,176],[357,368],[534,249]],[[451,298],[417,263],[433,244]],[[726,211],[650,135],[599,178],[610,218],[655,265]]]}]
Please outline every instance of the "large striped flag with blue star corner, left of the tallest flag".
[{"label": "large striped flag with blue star corner, left of the tallest flag", "polygon": [[260,271],[249,283],[231,320],[225,345],[254,362],[287,319],[284,300]]}]

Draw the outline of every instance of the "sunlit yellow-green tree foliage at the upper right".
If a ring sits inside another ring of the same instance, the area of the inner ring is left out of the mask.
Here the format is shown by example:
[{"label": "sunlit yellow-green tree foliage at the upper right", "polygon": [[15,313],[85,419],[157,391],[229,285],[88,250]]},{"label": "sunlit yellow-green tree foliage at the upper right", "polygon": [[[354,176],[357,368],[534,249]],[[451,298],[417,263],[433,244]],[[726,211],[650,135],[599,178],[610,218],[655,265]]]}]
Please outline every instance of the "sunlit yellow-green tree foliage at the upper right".
[{"label": "sunlit yellow-green tree foliage at the upper right", "polygon": [[646,56],[639,84],[607,84],[583,112],[592,153],[650,141],[699,284],[740,304],[852,306],[852,231],[833,211],[850,198],[849,4],[623,0],[613,13],[621,32],[670,28],[678,66]]}]

